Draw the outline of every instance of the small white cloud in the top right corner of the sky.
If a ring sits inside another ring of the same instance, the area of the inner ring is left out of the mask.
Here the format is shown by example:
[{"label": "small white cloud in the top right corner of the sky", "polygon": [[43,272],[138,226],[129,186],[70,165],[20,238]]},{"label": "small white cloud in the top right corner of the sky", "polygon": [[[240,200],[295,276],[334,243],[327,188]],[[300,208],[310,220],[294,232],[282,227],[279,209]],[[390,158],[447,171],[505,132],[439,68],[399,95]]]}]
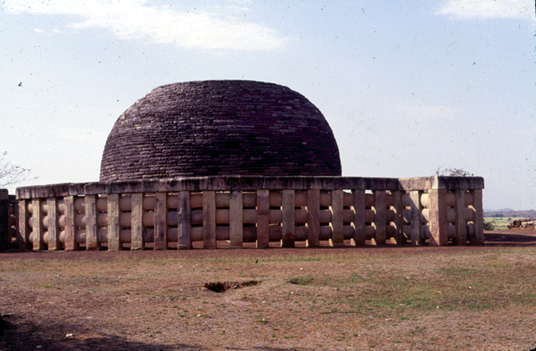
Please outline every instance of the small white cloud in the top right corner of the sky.
[{"label": "small white cloud in the top right corner of the sky", "polygon": [[533,0],[449,0],[435,14],[458,19],[534,18]]}]

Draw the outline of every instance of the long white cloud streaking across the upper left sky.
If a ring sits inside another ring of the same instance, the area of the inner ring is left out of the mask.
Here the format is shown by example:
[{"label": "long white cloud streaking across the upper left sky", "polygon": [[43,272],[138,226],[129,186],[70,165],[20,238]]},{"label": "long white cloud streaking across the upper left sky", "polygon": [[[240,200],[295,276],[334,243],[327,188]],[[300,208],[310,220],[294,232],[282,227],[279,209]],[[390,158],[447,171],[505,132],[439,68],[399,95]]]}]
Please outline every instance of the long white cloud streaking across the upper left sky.
[{"label": "long white cloud streaking across the upper left sky", "polygon": [[[172,6],[149,6],[141,0],[5,0],[12,14],[76,16],[74,29],[102,28],[120,39],[141,39],[150,43],[208,50],[273,51],[287,40],[269,27],[248,22],[246,3],[197,7],[195,11]],[[214,10],[215,9],[215,10]]]}]

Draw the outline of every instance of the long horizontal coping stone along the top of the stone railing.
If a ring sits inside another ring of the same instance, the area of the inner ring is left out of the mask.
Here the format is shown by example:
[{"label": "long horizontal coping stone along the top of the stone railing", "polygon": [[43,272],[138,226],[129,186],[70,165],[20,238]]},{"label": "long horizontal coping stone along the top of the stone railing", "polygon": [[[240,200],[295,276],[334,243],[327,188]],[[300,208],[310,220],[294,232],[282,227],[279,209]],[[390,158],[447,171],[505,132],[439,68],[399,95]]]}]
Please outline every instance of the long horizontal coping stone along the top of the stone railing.
[{"label": "long horizontal coping stone along the top of the stone railing", "polygon": [[[104,195],[129,193],[155,193],[203,190],[307,190],[307,189],[355,189],[355,190],[470,190],[483,189],[482,177],[416,177],[416,178],[371,178],[337,176],[210,176],[181,177],[172,179],[112,181],[88,183],[62,183],[17,188],[17,199],[64,197],[69,195]],[[4,190],[4,189],[2,189]],[[7,193],[7,190],[6,190]],[[0,191],[0,196],[3,194]]]}]

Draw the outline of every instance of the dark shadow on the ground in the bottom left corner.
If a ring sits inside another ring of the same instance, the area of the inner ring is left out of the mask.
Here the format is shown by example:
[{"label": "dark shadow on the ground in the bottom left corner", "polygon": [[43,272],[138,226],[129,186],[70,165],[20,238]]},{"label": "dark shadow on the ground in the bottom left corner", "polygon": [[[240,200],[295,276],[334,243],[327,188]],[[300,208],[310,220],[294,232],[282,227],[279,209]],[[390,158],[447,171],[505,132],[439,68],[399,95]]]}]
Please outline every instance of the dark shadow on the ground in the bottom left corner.
[{"label": "dark shadow on the ground in the bottom left corner", "polygon": [[[13,321],[10,321],[13,320]],[[93,333],[90,336],[83,332],[73,331],[67,336],[64,330],[73,330],[66,325],[37,326],[33,323],[16,323],[15,317],[0,318],[0,350],[207,350],[204,347],[175,344],[163,345],[158,343],[126,340],[117,335]]]}]

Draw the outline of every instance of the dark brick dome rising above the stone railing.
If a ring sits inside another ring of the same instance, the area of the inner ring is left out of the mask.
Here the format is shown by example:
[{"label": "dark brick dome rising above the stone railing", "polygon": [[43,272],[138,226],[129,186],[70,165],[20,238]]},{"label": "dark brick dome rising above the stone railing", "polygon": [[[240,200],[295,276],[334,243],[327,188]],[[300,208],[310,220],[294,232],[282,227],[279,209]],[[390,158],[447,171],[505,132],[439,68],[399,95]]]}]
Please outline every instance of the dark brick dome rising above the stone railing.
[{"label": "dark brick dome rising above the stone railing", "polygon": [[210,175],[340,176],[333,132],[303,95],[254,81],[158,87],[115,122],[101,181]]}]

